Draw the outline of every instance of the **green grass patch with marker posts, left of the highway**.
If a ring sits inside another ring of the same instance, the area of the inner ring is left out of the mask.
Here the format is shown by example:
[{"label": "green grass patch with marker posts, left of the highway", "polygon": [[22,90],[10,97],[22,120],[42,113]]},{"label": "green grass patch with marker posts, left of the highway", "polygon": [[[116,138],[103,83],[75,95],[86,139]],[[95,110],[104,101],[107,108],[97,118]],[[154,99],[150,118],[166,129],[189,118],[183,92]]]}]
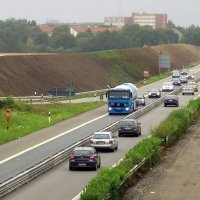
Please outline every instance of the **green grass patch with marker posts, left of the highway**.
[{"label": "green grass patch with marker posts, left of the highway", "polygon": [[[21,138],[34,131],[51,126],[60,121],[75,117],[86,111],[104,105],[96,101],[80,104],[30,105],[16,103],[12,98],[0,102],[0,144]],[[6,108],[11,108],[10,125],[7,130]],[[49,122],[50,112],[50,122]]]}]

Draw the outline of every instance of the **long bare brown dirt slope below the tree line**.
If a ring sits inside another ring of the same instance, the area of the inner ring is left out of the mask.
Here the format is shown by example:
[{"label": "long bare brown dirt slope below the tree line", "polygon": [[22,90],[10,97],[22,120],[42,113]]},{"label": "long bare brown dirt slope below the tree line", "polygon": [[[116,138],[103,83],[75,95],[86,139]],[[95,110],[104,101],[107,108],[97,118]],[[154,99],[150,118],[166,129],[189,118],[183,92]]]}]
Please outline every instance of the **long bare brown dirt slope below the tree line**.
[{"label": "long bare brown dirt slope below the tree line", "polygon": [[171,55],[172,68],[182,68],[200,60],[200,47],[184,44],[116,50],[106,57],[98,52],[82,54],[1,55],[0,92],[4,95],[47,94],[53,87],[73,81],[77,92],[106,88],[127,80],[143,79],[143,71],[158,73],[160,52]]}]

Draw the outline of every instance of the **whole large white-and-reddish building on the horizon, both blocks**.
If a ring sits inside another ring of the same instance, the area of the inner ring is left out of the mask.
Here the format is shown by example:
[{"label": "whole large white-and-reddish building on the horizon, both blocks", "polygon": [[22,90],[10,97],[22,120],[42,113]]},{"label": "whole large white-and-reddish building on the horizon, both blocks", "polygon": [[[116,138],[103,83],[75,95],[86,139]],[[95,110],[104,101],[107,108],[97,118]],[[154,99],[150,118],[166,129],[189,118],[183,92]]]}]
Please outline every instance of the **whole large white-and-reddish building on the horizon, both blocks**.
[{"label": "whole large white-and-reddish building on the horizon, both blocks", "polygon": [[131,17],[105,17],[104,25],[123,27],[126,24],[139,24],[155,28],[167,28],[167,14],[132,13]]}]

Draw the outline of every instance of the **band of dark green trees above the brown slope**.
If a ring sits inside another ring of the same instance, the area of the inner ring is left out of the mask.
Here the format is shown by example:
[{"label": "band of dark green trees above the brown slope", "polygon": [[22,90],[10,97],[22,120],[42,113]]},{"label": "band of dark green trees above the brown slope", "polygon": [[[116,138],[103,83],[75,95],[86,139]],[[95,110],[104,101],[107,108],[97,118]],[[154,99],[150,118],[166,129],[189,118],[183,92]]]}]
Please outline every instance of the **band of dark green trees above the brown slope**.
[{"label": "band of dark green trees above the brown slope", "polygon": [[74,37],[69,25],[57,24],[49,36],[35,21],[12,18],[0,21],[0,52],[91,52],[172,43],[200,45],[200,27],[175,27],[170,21],[168,25],[168,29],[126,25],[119,32],[96,34],[88,29]]}]

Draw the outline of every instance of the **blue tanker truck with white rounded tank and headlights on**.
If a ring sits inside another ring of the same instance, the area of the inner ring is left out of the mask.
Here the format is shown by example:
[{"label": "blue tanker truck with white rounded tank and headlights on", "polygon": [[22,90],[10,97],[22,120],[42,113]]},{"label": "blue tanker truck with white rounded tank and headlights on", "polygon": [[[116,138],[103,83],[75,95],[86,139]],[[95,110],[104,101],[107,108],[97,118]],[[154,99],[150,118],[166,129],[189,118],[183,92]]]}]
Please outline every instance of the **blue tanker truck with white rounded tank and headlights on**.
[{"label": "blue tanker truck with white rounded tank and headlights on", "polygon": [[132,83],[123,83],[114,88],[109,88],[106,96],[109,115],[129,114],[137,110],[138,89]]}]

